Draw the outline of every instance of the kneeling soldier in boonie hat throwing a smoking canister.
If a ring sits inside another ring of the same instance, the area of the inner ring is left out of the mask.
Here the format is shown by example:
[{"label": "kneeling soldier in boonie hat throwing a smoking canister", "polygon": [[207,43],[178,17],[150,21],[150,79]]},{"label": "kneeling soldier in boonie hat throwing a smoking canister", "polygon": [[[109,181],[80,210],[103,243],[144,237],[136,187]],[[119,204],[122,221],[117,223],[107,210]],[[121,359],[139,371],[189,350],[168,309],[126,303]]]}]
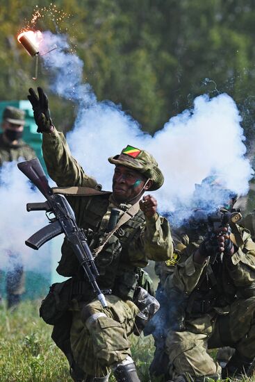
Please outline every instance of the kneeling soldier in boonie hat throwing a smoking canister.
[{"label": "kneeling soldier in boonie hat throwing a smoking canister", "polygon": [[137,382],[128,336],[139,313],[134,303],[136,290],[138,285],[146,288],[147,283],[142,281],[145,274],[141,268],[149,259],[172,256],[170,227],[156,212],[156,199],[147,195],[140,204],[139,200],[145,190],[161,187],[163,174],[147,151],[128,146],[108,159],[115,165],[113,192],[101,192],[101,185],[72,157],[63,133],[52,125],[42,89],[38,88],[39,97],[32,89],[29,92],[38,131],[43,133],[42,150],[49,175],[63,188],[77,224],[90,235],[90,248],[101,244],[112,208],[118,208],[122,215],[138,206],[96,258],[98,283],[108,308],[94,299],[72,249],[64,242],[57,271],[72,278],[65,283],[65,287],[70,285],[69,310],[54,326],[53,338],[69,360],[74,381],[108,381],[111,370],[117,381]]}]

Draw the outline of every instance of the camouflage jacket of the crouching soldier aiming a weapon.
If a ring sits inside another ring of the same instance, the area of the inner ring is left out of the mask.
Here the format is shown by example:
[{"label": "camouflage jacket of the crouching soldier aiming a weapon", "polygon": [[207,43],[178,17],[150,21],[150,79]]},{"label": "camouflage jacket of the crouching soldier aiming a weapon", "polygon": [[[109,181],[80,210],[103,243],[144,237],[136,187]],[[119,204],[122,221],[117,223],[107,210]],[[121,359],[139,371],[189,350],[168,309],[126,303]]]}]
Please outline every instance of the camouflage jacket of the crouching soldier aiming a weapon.
[{"label": "camouflage jacket of the crouching soldier aiming a weapon", "polygon": [[255,296],[255,243],[249,231],[242,226],[233,224],[231,230],[231,240],[238,251],[233,256],[219,256],[213,265],[209,258],[202,265],[194,261],[202,236],[192,241],[188,233],[174,235],[177,247],[173,257],[175,263],[170,265],[165,290],[167,294],[173,288],[183,292],[188,298],[186,308],[191,315],[199,316],[212,310],[228,313],[229,304],[236,297]]}]

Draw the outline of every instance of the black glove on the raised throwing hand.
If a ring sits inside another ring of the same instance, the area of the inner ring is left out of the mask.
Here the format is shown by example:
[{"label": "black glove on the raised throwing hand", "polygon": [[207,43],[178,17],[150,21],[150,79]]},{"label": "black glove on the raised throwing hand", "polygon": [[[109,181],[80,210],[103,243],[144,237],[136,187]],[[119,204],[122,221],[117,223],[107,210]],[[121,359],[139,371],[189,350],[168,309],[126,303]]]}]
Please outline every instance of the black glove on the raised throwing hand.
[{"label": "black glove on the raised throwing hand", "polygon": [[42,131],[49,133],[51,131],[52,121],[49,113],[47,95],[42,88],[38,88],[38,95],[32,88],[30,88],[28,92],[30,93],[28,100],[31,102],[35,123],[38,125],[38,133],[42,133]]}]

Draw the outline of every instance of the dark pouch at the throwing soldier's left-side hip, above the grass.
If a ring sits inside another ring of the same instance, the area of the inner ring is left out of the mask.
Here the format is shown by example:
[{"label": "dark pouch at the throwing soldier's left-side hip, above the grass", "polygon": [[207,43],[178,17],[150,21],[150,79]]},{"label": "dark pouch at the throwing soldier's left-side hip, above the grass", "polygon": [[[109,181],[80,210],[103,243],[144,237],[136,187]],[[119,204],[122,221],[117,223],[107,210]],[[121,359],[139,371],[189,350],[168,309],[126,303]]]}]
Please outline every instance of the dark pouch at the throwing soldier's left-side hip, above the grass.
[{"label": "dark pouch at the throwing soldier's left-side hip, above the grass", "polygon": [[42,300],[39,309],[40,317],[49,325],[56,325],[69,309],[72,292],[72,279],[63,283],[54,283],[49,288],[49,293]]}]

